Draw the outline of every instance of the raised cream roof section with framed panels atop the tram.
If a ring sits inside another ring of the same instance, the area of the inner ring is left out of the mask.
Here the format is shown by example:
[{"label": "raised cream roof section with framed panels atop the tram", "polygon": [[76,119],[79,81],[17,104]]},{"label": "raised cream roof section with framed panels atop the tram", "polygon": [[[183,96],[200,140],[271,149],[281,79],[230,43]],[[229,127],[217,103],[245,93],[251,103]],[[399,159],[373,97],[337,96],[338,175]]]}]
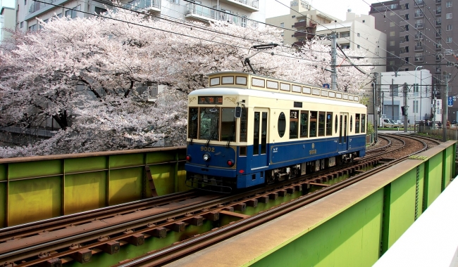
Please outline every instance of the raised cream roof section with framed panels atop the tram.
[{"label": "raised cream roof section with framed panels atop the tram", "polygon": [[321,88],[299,82],[275,79],[248,72],[213,72],[207,74],[209,87],[236,87],[268,92],[287,93],[296,96],[311,96],[359,103],[359,96],[354,93]]}]

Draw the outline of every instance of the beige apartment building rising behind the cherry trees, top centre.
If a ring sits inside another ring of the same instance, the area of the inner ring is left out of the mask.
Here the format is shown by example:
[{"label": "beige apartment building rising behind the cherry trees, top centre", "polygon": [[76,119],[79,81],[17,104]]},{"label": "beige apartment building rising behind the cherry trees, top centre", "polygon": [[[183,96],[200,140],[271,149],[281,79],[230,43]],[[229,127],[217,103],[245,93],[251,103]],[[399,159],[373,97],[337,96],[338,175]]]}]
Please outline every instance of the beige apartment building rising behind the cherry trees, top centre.
[{"label": "beige apartment building rising behind the cherry trees, top centre", "polygon": [[316,34],[316,27],[338,21],[326,13],[321,13],[307,1],[294,0],[290,2],[290,14],[266,18],[266,23],[284,29],[283,44],[302,46],[303,41],[312,39]]}]

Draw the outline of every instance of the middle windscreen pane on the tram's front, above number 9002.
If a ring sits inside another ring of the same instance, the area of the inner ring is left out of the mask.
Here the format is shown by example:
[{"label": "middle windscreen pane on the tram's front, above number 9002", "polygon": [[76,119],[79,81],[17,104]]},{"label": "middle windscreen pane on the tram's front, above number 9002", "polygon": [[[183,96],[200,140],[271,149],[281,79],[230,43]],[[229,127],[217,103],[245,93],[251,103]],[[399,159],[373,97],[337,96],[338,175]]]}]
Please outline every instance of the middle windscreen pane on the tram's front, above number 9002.
[{"label": "middle windscreen pane on the tram's front, above number 9002", "polygon": [[219,108],[200,109],[199,138],[204,140],[219,139]]}]

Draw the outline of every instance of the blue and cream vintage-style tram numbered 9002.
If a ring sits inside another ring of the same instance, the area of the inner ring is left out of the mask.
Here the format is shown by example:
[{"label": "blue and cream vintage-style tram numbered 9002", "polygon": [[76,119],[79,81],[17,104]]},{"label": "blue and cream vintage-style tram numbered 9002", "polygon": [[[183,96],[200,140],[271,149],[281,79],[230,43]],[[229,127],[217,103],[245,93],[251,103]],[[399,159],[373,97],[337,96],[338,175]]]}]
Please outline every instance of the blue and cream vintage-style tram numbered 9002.
[{"label": "blue and cream vintage-style tram numbered 9002", "polygon": [[363,157],[359,96],[245,72],[189,95],[187,185],[230,192]]}]

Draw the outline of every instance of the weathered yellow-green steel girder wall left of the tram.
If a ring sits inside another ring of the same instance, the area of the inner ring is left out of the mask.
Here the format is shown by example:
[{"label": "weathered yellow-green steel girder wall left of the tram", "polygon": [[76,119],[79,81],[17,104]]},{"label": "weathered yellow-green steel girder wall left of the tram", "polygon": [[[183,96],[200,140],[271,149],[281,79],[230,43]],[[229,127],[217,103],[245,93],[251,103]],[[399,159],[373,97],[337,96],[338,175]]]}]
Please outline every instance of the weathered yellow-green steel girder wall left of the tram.
[{"label": "weathered yellow-green steel girder wall left of the tram", "polygon": [[0,227],[187,190],[186,148],[0,159]]}]

